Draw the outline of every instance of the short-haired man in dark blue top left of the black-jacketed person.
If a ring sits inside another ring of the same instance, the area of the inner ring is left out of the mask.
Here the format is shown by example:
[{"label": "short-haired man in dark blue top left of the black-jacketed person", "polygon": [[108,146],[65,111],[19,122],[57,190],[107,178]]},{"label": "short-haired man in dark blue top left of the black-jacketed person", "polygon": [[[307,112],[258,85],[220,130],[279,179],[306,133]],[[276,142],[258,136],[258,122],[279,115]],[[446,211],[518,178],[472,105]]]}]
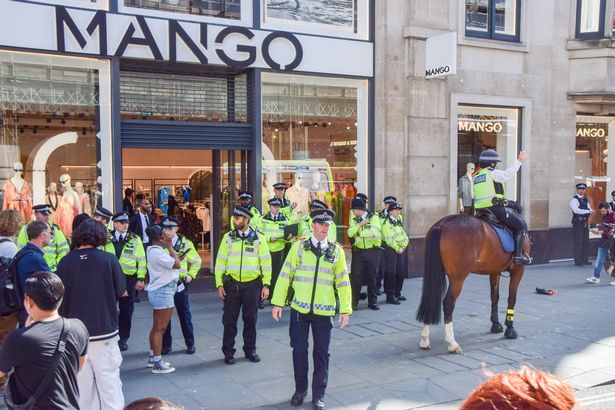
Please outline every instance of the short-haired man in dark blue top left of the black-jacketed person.
[{"label": "short-haired man in dark blue top left of the black-jacketed person", "polygon": [[[45,261],[44,249],[51,242],[51,228],[45,222],[33,221],[28,224],[26,235],[28,235],[28,243],[15,254],[13,262],[17,271],[21,300],[24,298],[26,279],[35,272],[50,271]],[[22,306],[18,313],[19,327],[25,326],[27,318],[28,312]]]}]

